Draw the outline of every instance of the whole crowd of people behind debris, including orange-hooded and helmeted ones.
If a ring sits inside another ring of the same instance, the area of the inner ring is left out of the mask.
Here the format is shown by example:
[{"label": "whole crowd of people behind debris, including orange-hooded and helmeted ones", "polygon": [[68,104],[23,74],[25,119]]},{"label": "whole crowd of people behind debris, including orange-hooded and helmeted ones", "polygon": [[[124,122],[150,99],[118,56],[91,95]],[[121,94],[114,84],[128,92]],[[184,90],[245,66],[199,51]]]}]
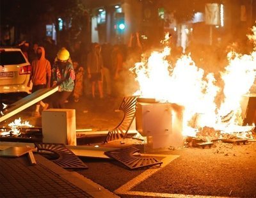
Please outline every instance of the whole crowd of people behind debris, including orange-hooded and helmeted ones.
[{"label": "whole crowd of people behind debris, including orange-hooded and helmeted ones", "polygon": [[[140,57],[142,52],[138,34],[136,38],[134,35],[126,46],[91,43],[87,51],[79,41],[59,49],[49,39],[30,46],[28,42],[20,43],[20,49],[31,63],[28,87],[33,84],[32,93],[58,86],[49,102],[36,103],[33,116],[40,116],[49,107],[64,109],[65,103],[79,102],[82,96],[92,100],[124,96],[125,75],[129,72],[125,60],[128,56]],[[133,39],[135,44],[131,44]]]}]

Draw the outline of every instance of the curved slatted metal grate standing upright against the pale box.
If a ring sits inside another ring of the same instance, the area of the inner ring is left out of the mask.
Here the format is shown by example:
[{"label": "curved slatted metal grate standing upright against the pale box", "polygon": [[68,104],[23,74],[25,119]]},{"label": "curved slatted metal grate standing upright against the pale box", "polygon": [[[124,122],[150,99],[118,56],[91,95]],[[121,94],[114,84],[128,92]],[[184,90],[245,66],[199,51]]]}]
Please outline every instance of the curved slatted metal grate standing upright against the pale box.
[{"label": "curved slatted metal grate standing upright against the pale box", "polygon": [[124,97],[119,107],[119,110],[124,111],[124,118],[115,128],[108,132],[105,142],[116,141],[122,138],[125,139],[135,117],[136,100],[137,96]]}]

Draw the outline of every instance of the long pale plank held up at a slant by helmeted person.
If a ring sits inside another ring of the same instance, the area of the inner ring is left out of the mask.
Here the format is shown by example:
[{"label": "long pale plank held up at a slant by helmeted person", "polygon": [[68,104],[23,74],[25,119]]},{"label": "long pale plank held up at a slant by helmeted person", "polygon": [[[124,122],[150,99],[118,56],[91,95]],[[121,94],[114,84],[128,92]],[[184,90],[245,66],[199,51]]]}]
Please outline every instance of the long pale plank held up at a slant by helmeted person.
[{"label": "long pale plank held up at a slant by helmeted person", "polygon": [[15,114],[19,113],[20,111],[30,107],[31,105],[35,104],[36,102],[39,102],[40,100],[43,100],[44,98],[52,95],[58,91],[58,86],[56,88],[46,88],[46,89],[40,89],[36,91],[35,93],[31,93],[31,95],[28,95],[20,100],[18,100],[15,103],[12,103],[12,105],[9,105],[10,108],[6,109],[3,112],[3,116],[0,117],[0,123]]}]

